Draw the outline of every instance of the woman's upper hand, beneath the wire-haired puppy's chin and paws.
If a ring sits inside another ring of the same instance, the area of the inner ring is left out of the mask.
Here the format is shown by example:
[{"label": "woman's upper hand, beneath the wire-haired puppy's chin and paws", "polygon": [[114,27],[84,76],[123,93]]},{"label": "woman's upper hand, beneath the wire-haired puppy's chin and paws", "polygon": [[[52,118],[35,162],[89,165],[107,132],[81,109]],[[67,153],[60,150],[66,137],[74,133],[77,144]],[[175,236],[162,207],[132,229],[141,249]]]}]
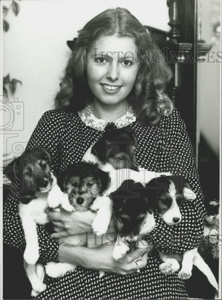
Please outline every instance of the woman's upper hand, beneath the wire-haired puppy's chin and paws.
[{"label": "woman's upper hand, beneath the wire-haired puppy's chin and paws", "polygon": [[[69,235],[84,234],[92,231],[91,224],[96,216],[95,212],[88,211],[65,211],[59,207],[60,211],[53,211],[46,208],[46,214],[49,220],[54,224],[56,233],[51,236],[53,238],[61,238]],[[113,221],[110,222],[108,232],[115,233]]]}]

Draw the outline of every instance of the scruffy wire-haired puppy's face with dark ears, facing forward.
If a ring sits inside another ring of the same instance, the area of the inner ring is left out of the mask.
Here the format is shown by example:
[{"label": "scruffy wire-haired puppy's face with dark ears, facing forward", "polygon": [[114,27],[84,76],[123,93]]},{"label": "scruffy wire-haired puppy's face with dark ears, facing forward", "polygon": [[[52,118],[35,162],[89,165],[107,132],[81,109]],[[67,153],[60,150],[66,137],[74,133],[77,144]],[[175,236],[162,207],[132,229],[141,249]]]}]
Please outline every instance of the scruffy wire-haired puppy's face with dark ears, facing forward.
[{"label": "scruffy wire-haired puppy's face with dark ears, facing forward", "polygon": [[110,176],[97,164],[78,162],[58,177],[58,185],[68,194],[76,211],[87,211],[92,202],[109,187]]}]

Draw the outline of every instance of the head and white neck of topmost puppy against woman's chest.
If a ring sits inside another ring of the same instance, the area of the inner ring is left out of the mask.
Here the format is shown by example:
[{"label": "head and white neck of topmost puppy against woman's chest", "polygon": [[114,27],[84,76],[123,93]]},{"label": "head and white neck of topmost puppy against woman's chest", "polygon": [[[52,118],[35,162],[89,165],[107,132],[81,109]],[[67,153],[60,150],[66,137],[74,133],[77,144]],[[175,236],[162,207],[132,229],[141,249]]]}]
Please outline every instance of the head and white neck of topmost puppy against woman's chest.
[{"label": "head and white neck of topmost puppy against woman's chest", "polygon": [[126,128],[107,131],[84,154],[83,160],[98,162],[102,169],[139,170],[136,160],[137,139]]}]

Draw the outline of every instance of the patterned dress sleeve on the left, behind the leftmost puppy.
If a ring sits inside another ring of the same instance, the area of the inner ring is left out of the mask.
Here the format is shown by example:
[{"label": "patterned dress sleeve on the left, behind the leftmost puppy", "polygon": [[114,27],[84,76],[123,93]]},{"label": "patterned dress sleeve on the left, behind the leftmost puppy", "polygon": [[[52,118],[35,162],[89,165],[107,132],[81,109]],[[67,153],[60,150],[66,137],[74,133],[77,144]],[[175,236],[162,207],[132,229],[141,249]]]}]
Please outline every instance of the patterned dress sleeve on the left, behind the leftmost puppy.
[{"label": "patterned dress sleeve on the left, behind the leftmost puppy", "polygon": [[[59,170],[59,147],[63,136],[64,124],[62,113],[57,110],[47,111],[38,122],[26,150],[33,146],[44,146],[51,155],[52,171]],[[16,195],[16,182],[11,184],[10,193],[4,204],[3,239],[10,247],[15,247],[24,253],[26,241],[22,223],[18,214],[18,198]],[[37,224],[39,261],[46,263],[58,261],[58,242],[50,237],[44,225]]]}]

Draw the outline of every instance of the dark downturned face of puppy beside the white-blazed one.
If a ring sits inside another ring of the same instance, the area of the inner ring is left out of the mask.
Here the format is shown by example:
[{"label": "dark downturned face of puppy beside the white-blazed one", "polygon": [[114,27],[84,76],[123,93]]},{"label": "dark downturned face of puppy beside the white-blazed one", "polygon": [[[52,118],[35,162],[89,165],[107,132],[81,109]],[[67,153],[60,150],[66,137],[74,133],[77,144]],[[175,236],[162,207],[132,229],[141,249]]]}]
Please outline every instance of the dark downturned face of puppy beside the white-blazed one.
[{"label": "dark downturned face of puppy beside the white-blazed one", "polygon": [[148,206],[143,185],[133,180],[125,180],[110,196],[113,200],[113,216],[118,233],[139,234]]}]

